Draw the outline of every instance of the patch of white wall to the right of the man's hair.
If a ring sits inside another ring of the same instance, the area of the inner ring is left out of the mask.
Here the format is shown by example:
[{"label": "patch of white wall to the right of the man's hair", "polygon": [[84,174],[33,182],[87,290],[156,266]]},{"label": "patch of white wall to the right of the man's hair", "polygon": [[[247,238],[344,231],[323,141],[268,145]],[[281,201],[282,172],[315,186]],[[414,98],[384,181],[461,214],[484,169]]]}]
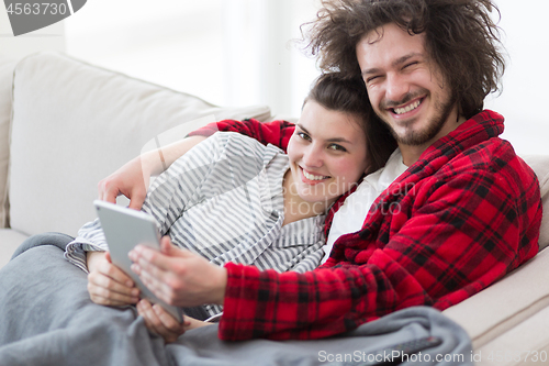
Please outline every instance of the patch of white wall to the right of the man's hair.
[{"label": "patch of white wall to the right of the man's hair", "polygon": [[504,138],[519,154],[549,154],[549,29],[547,0],[495,0],[508,54],[503,92],[490,97],[486,108],[505,117]]}]

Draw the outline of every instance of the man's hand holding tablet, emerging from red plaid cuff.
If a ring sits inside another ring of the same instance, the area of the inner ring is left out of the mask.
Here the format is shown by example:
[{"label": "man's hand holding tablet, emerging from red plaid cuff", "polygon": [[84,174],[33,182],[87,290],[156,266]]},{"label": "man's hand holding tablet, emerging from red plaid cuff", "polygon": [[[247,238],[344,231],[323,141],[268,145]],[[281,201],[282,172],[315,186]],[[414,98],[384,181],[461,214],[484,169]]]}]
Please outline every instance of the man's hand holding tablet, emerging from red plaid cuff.
[{"label": "man's hand holding tablet, emerging from red plaid cuff", "polygon": [[136,273],[159,299],[177,307],[204,303],[223,304],[227,271],[205,258],[171,245],[169,236],[160,242],[160,252],[137,245],[130,252]]}]

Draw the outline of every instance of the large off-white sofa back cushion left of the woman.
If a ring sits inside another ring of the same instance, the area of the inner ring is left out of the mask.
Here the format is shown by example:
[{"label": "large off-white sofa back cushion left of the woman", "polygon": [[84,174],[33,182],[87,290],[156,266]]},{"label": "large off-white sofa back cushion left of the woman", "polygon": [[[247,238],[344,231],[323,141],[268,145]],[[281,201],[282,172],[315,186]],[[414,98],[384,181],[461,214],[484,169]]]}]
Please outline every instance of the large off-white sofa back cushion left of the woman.
[{"label": "large off-white sofa back cushion left of the woman", "polygon": [[10,224],[30,235],[75,235],[96,217],[98,181],[165,131],[177,140],[215,120],[270,115],[267,107],[220,108],[56,53],[21,60],[13,82]]}]

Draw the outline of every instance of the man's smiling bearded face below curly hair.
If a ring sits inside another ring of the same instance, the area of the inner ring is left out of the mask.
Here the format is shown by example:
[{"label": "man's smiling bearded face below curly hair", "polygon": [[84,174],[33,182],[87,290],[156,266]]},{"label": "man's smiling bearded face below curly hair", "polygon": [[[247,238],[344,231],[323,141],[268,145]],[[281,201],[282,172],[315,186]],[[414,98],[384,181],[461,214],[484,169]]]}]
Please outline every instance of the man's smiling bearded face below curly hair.
[{"label": "man's smiling bearded face below curly hair", "polygon": [[452,93],[424,44],[424,34],[410,35],[394,23],[365,34],[357,44],[373,110],[401,148],[426,148],[457,126]]}]

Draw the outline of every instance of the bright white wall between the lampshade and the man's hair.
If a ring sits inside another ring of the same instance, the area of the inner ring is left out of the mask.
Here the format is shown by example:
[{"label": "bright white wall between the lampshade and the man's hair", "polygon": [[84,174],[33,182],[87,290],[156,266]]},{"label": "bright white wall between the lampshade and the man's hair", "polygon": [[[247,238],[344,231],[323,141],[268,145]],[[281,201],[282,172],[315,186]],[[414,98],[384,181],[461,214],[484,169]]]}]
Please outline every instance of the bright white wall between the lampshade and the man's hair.
[{"label": "bright white wall between the lampshade and the man's hair", "polygon": [[288,43],[317,2],[93,0],[65,21],[67,52],[216,104],[295,117],[318,71]]}]

